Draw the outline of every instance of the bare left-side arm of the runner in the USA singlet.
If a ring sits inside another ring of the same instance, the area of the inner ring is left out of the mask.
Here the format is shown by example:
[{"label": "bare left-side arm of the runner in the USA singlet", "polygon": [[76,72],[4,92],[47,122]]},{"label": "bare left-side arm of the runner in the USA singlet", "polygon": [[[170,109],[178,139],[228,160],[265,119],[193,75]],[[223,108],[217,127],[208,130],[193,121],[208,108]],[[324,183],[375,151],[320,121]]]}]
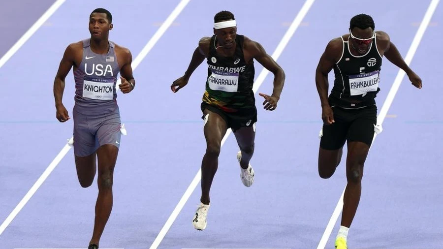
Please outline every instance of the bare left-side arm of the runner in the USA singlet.
[{"label": "bare left-side arm of the runner in the USA singlet", "polygon": [[78,67],[82,61],[83,43],[76,42],[69,44],[63,54],[56,77],[54,79],[54,98],[57,109],[57,120],[60,122],[68,121],[69,115],[63,106],[64,79],[71,70],[72,66]]}]

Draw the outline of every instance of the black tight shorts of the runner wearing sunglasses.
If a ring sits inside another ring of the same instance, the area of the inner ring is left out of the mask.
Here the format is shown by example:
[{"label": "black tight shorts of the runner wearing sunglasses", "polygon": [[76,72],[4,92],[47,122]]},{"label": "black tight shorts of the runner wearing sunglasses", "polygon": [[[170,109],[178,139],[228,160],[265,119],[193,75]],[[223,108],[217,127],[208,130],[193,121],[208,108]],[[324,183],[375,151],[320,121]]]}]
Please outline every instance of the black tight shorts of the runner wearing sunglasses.
[{"label": "black tight shorts of the runner wearing sunglasses", "polygon": [[323,125],[320,147],[325,150],[338,150],[348,142],[363,142],[369,147],[374,139],[374,125],[377,125],[377,106],[360,109],[332,107],[334,123]]}]

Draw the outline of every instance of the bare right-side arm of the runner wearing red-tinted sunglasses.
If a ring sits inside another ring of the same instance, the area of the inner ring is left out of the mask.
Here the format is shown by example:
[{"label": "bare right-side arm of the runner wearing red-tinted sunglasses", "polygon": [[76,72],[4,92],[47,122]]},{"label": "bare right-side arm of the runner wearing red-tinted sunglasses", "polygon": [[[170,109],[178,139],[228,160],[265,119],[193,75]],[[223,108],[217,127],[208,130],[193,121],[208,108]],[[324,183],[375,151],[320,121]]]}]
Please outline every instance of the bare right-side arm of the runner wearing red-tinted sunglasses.
[{"label": "bare right-side arm of the runner wearing red-tinted sunglasses", "polygon": [[415,74],[414,71],[406,64],[403,60],[402,55],[398,51],[397,47],[395,47],[394,43],[390,41],[389,35],[383,31],[376,31],[377,33],[377,45],[380,52],[380,55],[384,55],[386,59],[392,62],[394,65],[403,69],[409,77],[412,85],[416,88],[421,89],[421,79]]}]

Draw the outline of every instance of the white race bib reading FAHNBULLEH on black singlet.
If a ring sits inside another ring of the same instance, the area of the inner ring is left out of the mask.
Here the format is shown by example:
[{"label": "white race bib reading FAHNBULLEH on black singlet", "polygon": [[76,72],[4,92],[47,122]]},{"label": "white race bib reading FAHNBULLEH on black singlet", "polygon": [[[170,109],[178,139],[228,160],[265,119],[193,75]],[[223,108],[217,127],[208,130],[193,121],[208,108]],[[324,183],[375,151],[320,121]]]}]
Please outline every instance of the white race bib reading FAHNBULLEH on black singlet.
[{"label": "white race bib reading FAHNBULLEH on black singlet", "polygon": [[370,73],[362,73],[356,75],[349,75],[349,90],[350,95],[366,95],[368,92],[377,92],[380,82],[379,71]]}]

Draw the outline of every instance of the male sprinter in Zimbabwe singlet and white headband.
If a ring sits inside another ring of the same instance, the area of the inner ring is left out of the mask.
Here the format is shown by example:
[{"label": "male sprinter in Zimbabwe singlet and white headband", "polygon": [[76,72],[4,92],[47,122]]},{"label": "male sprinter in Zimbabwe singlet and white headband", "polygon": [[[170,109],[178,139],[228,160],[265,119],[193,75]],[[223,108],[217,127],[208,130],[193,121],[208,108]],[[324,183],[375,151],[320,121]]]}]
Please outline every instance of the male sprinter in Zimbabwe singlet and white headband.
[{"label": "male sprinter in Zimbabwe singlet and white headband", "polygon": [[237,159],[241,167],[241,180],[246,187],[250,187],[254,181],[254,171],[249,164],[254,152],[257,121],[252,90],[255,73],[253,60],[274,74],[272,95],[259,93],[265,99],[264,109],[275,110],[285,82],[285,72],[259,43],[237,35],[236,22],[231,12],[217,13],[214,22],[214,35],[200,40],[185,75],[171,85],[174,93],[186,86],[195,68],[207,59],[208,78],[201,104],[206,154],[201,165],[201,203],[192,218],[192,224],[197,230],[206,228],[209,190],[218,168],[221,140],[228,128],[234,132],[240,147]]}]

